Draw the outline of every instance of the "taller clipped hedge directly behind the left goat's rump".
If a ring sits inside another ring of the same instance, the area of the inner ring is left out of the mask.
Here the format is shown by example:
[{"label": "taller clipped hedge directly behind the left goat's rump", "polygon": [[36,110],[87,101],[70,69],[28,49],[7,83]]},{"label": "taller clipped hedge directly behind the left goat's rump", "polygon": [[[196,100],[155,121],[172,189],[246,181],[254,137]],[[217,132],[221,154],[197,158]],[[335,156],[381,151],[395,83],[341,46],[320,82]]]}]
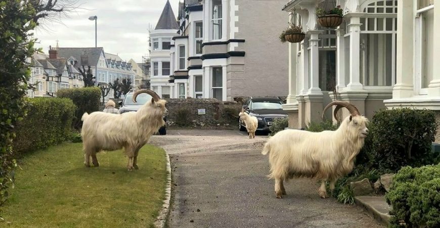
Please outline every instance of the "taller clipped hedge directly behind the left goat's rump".
[{"label": "taller clipped hedge directly behind the left goat's rump", "polygon": [[98,87],[85,87],[58,90],[57,97],[70,98],[78,107],[73,120],[73,127],[81,129],[81,117],[84,112],[99,111],[101,106],[101,90]]}]

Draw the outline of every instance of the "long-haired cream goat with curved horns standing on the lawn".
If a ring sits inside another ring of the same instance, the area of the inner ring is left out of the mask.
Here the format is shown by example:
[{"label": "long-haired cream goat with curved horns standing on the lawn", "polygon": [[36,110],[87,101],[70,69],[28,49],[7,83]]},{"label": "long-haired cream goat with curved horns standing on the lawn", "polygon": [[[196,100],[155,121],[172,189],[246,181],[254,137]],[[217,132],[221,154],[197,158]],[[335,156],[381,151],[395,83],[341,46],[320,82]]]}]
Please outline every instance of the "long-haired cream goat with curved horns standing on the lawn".
[{"label": "long-haired cream goat with curved horns standing on the lawn", "polygon": [[165,124],[165,100],[151,90],[138,90],[133,94],[133,101],[141,93],[152,96],[136,112],[125,112],[114,115],[102,111],[84,113],[81,137],[84,149],[84,165],[90,167],[90,157],[94,166],[99,166],[96,153],[101,150],[117,150],[124,148],[128,157],[128,170],[138,169],[137,158],[139,149],[147,143],[150,136]]}]

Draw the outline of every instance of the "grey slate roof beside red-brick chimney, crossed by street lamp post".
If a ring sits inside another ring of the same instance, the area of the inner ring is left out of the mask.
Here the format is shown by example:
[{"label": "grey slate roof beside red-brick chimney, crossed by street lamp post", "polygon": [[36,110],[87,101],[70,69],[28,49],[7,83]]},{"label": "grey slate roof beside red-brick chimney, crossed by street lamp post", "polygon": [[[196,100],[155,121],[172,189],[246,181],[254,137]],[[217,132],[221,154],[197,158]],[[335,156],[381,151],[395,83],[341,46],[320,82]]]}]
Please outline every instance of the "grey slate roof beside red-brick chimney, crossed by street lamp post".
[{"label": "grey slate roof beside red-brick chimney, crossed by street lamp post", "polygon": [[[75,58],[78,62],[75,67],[81,65],[96,66],[99,61],[99,57],[103,51],[102,47],[99,48],[58,48],[58,58],[69,59],[69,57]],[[81,58],[82,57],[82,58]]]}]

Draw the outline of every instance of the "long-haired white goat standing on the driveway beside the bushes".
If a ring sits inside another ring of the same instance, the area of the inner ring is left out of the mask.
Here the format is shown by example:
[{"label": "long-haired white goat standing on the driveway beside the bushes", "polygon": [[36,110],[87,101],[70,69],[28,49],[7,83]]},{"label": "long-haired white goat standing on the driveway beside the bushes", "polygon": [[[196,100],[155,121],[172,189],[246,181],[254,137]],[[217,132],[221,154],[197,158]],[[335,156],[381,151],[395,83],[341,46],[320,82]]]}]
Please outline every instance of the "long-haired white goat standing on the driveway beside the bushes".
[{"label": "long-haired white goat standing on the driveway beside the bushes", "polygon": [[321,180],[319,196],[327,198],[325,183],[330,181],[333,191],[336,180],[353,170],[355,157],[364,146],[368,135],[367,118],[348,102],[333,101],[325,108],[337,105],[334,116],[341,107],[346,107],[351,116],[346,117],[336,131],[309,132],[287,129],[269,138],[261,154],[269,153],[271,173],[275,179],[275,195],[286,195],[283,181],[294,177],[309,177]]}]

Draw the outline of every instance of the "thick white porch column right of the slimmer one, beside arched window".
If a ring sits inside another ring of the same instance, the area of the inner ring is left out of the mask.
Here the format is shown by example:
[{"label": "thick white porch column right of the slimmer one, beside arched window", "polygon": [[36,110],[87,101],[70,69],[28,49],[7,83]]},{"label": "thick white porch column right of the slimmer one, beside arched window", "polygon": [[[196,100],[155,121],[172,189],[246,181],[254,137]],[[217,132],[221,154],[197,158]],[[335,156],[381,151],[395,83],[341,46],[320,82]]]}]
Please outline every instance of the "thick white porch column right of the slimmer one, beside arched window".
[{"label": "thick white porch column right of the slimmer one, beside arched window", "polygon": [[350,18],[350,83],[347,90],[363,90],[360,83],[360,39],[361,39],[361,20],[358,16]]}]

